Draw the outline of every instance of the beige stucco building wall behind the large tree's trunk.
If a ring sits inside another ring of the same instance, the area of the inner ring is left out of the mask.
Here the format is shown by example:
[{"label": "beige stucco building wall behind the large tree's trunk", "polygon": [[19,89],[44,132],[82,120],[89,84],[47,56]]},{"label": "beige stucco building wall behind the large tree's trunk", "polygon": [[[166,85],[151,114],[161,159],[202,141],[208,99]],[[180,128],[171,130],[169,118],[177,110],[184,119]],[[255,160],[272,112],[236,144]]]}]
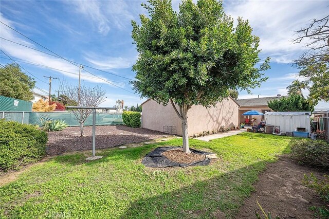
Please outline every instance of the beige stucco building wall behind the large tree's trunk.
[{"label": "beige stucco building wall behind the large tree's trunk", "polygon": [[[218,102],[216,107],[192,106],[188,112],[189,136],[204,131],[217,131],[222,125],[231,127],[239,124],[239,105],[231,98]],[[163,126],[176,126],[181,135],[181,120],[171,104],[163,106],[153,100],[143,103],[142,127],[163,132]]]}]

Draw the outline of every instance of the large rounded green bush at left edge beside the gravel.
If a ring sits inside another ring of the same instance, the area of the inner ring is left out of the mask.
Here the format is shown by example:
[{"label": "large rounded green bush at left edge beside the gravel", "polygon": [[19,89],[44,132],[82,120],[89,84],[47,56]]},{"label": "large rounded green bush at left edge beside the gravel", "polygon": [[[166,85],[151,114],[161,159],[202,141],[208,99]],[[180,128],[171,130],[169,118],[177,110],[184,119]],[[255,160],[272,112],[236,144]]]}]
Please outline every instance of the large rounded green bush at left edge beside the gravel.
[{"label": "large rounded green bush at left edge beside the gravel", "polygon": [[0,120],[0,171],[38,161],[46,153],[47,133],[33,125]]}]

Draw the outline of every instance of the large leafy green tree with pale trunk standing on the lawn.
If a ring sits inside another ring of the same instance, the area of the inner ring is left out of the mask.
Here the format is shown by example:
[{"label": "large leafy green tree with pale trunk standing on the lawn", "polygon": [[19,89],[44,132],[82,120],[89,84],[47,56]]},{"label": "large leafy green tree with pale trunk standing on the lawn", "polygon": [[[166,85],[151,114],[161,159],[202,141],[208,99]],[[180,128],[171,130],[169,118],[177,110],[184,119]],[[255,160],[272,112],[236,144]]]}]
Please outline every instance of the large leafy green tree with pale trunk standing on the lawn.
[{"label": "large leafy green tree with pale trunk standing on the lawn", "polygon": [[170,103],[182,123],[183,150],[189,150],[187,113],[227,98],[229,89],[259,86],[266,81],[269,59],[259,59],[259,38],[248,21],[233,19],[215,0],[183,1],[179,12],[170,0],[142,4],[148,15],[133,21],[132,37],[139,52],[132,82],[141,97]]}]

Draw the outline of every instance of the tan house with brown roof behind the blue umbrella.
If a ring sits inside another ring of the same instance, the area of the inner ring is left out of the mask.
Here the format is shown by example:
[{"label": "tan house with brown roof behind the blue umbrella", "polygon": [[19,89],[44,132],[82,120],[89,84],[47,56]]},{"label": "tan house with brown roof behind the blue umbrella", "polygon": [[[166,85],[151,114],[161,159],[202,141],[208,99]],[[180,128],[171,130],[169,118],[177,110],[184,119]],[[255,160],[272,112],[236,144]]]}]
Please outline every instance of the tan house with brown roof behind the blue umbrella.
[{"label": "tan house with brown roof behind the blue umbrella", "polygon": [[260,97],[260,98],[236,100],[236,102],[239,103],[240,105],[239,123],[244,123],[246,119],[252,120],[253,117],[257,118],[257,121],[264,119],[264,116],[243,116],[242,114],[250,110],[256,110],[264,114],[266,112],[271,112],[272,109],[268,107],[267,102],[270,100],[280,99],[281,97],[288,97],[288,96],[281,96],[280,94],[278,94],[276,97]]}]

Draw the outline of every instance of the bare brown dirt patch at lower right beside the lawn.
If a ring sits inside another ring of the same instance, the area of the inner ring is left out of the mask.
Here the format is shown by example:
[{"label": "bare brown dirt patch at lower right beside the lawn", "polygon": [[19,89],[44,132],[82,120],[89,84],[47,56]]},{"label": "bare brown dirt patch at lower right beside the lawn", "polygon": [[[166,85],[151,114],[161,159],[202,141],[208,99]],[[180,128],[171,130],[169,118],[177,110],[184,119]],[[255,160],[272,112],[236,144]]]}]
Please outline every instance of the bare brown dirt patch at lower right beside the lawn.
[{"label": "bare brown dirt patch at lower right beside the lawn", "polygon": [[276,163],[270,163],[260,174],[255,191],[245,200],[236,218],[255,218],[255,211],[261,213],[257,200],[265,212],[280,218],[313,218],[312,206],[323,206],[314,191],[304,187],[304,174],[313,172],[322,178],[323,170],[298,165],[288,155],[281,156]]}]

